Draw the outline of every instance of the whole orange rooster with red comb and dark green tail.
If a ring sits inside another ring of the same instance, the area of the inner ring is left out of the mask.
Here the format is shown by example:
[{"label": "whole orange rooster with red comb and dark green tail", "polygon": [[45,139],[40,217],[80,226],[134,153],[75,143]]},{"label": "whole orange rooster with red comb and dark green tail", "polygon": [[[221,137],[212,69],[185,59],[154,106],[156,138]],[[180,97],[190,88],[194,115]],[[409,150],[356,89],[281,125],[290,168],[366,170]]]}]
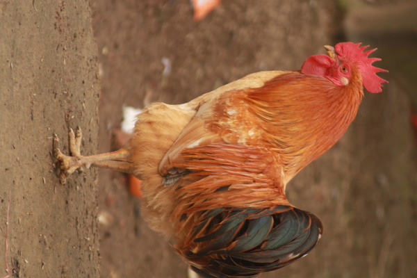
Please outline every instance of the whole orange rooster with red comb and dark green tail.
[{"label": "whole orange rooster with red comb and dark green tail", "polygon": [[282,268],[316,245],[322,224],[292,206],[286,185],[332,147],[387,72],[360,43],[325,46],[301,70],[258,72],[181,105],[150,104],[129,143],[81,156],[54,156],[60,180],[80,167],[106,167],[142,180],[142,216],[173,241],[202,277],[254,277]]}]

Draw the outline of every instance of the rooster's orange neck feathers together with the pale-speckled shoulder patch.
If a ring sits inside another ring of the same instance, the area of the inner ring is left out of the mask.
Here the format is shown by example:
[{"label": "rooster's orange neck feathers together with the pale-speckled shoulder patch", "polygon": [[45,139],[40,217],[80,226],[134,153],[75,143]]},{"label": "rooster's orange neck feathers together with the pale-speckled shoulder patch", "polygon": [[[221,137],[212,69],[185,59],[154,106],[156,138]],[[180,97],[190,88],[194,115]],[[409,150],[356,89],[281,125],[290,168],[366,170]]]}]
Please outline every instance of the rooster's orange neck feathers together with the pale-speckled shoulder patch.
[{"label": "rooster's orange neck feathers together with the pale-speckled shoulder patch", "polygon": [[[287,72],[260,88],[224,94],[207,122],[227,142],[261,145],[277,154],[284,186],[303,167],[332,147],[357,114],[363,97],[353,85],[335,87],[327,79]],[[307,93],[308,92],[308,93]],[[233,110],[235,113],[220,111]]]}]

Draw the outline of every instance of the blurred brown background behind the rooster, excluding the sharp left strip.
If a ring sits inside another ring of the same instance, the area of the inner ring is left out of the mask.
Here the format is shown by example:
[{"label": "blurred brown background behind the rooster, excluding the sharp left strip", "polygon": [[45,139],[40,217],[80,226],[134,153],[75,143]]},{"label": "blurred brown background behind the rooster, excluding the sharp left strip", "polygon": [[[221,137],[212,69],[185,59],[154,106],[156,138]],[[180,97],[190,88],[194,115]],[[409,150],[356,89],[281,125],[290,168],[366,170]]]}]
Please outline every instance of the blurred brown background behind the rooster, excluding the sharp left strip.
[{"label": "blurred brown background behind the rooster, excluding the sharp left strip", "polygon": [[[288,185],[322,240],[267,277],[417,277],[417,2],[227,0],[204,19],[189,1],[90,1],[99,49],[99,152],[122,107],[180,104],[261,70],[297,70],[322,46],[370,44],[389,84],[347,134]],[[414,124],[413,124],[414,121]],[[140,218],[123,174],[99,172],[101,277],[183,278],[187,266]]]}]

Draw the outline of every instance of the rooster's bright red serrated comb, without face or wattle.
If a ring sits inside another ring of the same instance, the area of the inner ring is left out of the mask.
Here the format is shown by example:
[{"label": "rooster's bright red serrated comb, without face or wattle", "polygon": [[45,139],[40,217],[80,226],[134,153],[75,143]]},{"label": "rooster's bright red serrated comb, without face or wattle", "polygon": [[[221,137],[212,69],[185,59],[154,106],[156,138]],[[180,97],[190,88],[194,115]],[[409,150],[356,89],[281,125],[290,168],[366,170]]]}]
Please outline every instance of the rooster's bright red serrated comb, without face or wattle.
[{"label": "rooster's bright red serrated comb, without face or wattle", "polygon": [[340,60],[347,60],[351,63],[357,63],[362,75],[363,86],[368,92],[382,92],[382,83],[388,83],[385,79],[377,76],[377,72],[388,72],[387,70],[374,67],[372,64],[380,61],[380,58],[369,58],[369,54],[377,50],[365,50],[369,45],[361,47],[361,42],[339,42],[335,45],[334,50]]}]

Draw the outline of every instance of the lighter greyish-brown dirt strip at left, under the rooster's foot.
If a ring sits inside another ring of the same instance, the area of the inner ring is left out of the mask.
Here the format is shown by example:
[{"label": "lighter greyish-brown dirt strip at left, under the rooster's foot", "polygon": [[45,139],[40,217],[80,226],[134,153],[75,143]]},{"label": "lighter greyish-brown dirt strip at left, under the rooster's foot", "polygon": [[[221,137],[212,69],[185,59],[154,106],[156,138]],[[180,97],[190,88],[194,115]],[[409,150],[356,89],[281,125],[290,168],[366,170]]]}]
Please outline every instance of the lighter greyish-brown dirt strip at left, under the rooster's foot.
[{"label": "lighter greyish-brown dirt strip at left, under the rooster's foot", "polygon": [[6,241],[10,277],[99,277],[97,172],[62,186],[51,157],[53,132],[67,152],[69,126],[97,149],[88,1],[1,1],[0,22],[0,277]]}]

